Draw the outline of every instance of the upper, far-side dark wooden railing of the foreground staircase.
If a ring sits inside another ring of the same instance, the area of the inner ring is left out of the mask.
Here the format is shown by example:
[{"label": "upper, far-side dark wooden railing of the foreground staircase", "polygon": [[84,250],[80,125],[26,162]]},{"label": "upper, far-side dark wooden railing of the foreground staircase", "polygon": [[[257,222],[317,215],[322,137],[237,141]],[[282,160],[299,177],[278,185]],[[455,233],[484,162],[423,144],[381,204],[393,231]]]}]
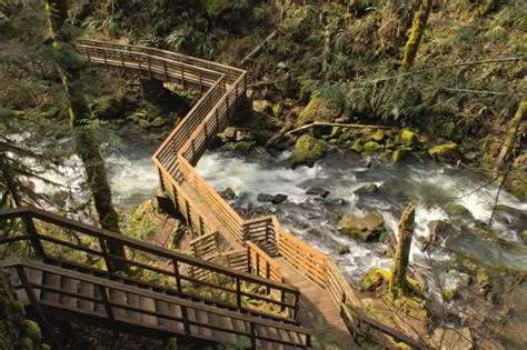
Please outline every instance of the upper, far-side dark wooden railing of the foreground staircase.
[{"label": "upper, far-side dark wooden railing of the foreground staircase", "polygon": [[[137,272],[141,279],[151,278],[157,283],[176,286],[178,292],[200,298],[226,296],[223,301],[239,310],[278,318],[288,319],[284,314],[296,314],[298,308],[300,292],[286,283],[196,259],[33,207],[0,212],[0,220],[8,219],[23,221],[27,234],[18,240],[29,242],[42,259],[73,257],[73,262],[95,264],[108,272],[113,272],[116,266],[126,264],[130,273]],[[63,231],[59,234],[59,230]],[[0,244],[11,243],[12,240],[0,240]],[[111,254],[110,244],[123,247],[126,258]],[[208,278],[197,278],[193,273],[197,270],[207,271]],[[265,308],[255,306],[253,301]]]}]

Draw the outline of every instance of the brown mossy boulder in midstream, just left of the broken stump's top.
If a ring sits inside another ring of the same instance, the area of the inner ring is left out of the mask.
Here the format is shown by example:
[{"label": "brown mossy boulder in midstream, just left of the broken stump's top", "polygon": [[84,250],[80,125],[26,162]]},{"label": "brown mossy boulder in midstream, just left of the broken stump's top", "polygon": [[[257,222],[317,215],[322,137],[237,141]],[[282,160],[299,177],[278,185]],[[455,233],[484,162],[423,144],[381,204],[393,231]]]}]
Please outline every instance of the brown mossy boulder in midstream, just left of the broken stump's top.
[{"label": "brown mossy boulder in midstream, just left of the broken stump's top", "polygon": [[338,230],[367,242],[379,238],[386,231],[385,219],[378,212],[369,213],[362,218],[347,213],[340,219]]}]

